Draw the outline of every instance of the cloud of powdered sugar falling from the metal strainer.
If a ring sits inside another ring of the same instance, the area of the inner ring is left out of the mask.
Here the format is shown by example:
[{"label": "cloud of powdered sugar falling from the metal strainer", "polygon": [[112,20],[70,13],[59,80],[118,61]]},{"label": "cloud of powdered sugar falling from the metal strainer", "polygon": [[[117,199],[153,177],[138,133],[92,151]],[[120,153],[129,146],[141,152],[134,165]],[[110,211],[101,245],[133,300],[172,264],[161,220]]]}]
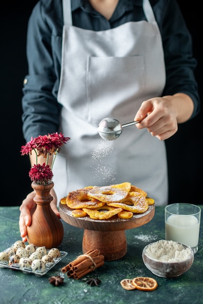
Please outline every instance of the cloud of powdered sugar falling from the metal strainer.
[{"label": "cloud of powdered sugar falling from the metal strainer", "polygon": [[98,146],[92,151],[92,172],[94,177],[99,178],[102,183],[112,183],[116,181],[117,173],[116,168],[108,159],[109,154],[114,149],[114,141],[103,140],[99,142]]}]

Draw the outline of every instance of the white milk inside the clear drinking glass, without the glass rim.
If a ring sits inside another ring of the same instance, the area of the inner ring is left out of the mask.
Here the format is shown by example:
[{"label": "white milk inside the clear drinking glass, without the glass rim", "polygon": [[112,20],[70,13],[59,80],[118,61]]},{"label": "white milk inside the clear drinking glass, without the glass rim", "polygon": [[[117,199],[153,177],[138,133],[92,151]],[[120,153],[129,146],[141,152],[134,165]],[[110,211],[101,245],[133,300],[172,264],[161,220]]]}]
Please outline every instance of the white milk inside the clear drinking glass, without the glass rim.
[{"label": "white milk inside the clear drinking glass, without the glass rim", "polygon": [[200,222],[195,216],[170,215],[165,222],[166,240],[173,240],[190,247],[199,241]]}]

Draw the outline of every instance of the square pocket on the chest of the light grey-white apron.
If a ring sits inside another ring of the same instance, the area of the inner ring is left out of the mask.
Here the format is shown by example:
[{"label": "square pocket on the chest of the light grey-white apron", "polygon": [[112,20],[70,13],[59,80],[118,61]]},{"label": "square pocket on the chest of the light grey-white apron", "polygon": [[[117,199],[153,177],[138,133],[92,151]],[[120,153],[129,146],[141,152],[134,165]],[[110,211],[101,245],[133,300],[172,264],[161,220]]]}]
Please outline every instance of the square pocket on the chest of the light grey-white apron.
[{"label": "square pocket on the chest of the light grey-white apron", "polygon": [[[143,56],[88,57],[86,87],[88,121],[103,118],[134,118],[140,103],[136,96],[145,88]],[[131,112],[133,111],[133,113]]]}]

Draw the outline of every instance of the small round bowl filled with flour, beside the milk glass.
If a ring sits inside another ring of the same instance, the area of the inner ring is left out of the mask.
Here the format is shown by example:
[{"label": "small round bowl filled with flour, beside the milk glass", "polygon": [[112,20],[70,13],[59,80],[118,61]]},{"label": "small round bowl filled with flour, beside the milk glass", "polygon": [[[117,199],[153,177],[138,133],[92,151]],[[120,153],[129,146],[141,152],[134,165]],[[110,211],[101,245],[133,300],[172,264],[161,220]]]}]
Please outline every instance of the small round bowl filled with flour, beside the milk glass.
[{"label": "small round bowl filled with flour, beside the milk glass", "polygon": [[192,266],[194,253],[184,244],[159,240],[143,249],[142,258],[145,266],[153,274],[163,278],[173,278],[180,276]]}]

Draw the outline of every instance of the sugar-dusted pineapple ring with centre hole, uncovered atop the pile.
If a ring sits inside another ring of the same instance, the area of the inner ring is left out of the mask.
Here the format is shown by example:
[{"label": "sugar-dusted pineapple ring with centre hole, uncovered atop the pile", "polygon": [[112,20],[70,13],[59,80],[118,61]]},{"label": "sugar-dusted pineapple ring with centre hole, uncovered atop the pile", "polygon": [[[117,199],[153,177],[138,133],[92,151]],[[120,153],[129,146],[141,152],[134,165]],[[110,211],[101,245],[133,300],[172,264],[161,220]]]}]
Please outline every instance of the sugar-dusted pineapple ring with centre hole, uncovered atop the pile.
[{"label": "sugar-dusted pineapple ring with centre hole, uncovered atop the pile", "polygon": [[111,186],[93,188],[88,196],[104,203],[121,202],[128,196],[128,192]]}]

